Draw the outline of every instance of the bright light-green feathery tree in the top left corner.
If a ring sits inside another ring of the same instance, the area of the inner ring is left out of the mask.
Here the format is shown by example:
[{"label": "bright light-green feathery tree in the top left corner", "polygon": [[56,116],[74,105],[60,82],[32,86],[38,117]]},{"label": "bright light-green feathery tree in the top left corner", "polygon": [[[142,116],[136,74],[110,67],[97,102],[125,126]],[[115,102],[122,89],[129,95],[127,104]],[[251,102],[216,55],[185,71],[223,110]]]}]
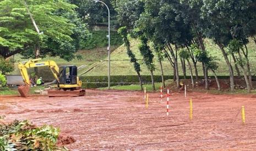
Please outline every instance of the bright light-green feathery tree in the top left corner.
[{"label": "bright light-green feathery tree in the top left corner", "polygon": [[75,5],[60,1],[29,1],[41,36],[35,31],[23,1],[10,0],[0,2],[0,55],[4,58],[23,52],[25,49],[43,45],[47,39],[63,42],[72,41],[75,25],[58,14],[59,10],[72,13]]}]

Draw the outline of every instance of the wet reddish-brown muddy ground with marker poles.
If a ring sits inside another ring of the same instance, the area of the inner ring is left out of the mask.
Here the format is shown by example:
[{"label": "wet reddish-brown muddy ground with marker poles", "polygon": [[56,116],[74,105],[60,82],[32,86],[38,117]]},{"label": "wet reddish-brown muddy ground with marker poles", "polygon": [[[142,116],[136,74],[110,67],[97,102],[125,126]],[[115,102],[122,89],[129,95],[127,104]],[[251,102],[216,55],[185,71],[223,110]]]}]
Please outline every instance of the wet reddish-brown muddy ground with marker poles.
[{"label": "wet reddish-brown muddy ground with marker poles", "polygon": [[[254,150],[256,96],[173,94],[170,115],[166,98],[136,91],[87,90],[84,97],[0,97],[7,121],[29,119],[52,124],[76,141],[71,150]],[[189,98],[193,98],[193,120]],[[242,124],[241,106],[246,108]]]}]

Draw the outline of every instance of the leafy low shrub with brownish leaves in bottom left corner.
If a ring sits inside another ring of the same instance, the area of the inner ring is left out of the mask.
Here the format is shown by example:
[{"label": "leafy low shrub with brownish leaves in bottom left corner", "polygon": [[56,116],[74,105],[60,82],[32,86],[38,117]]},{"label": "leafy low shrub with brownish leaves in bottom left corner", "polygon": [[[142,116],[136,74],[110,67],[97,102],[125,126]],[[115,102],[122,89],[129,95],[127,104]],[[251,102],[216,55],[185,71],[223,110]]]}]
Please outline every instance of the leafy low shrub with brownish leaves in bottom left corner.
[{"label": "leafy low shrub with brownish leaves in bottom left corner", "polygon": [[0,125],[0,150],[68,150],[57,147],[58,133],[52,126],[36,127],[27,120],[15,120]]}]

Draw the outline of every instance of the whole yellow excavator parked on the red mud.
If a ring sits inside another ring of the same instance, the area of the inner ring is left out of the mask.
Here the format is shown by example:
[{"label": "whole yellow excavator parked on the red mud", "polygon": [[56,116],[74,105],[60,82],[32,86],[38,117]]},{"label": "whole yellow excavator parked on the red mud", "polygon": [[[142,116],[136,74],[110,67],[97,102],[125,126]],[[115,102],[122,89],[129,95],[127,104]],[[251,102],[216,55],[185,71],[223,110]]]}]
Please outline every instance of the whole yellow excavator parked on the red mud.
[{"label": "whole yellow excavator parked on the red mud", "polygon": [[19,62],[18,68],[24,81],[24,85],[18,87],[18,91],[22,97],[28,96],[30,89],[30,78],[28,68],[49,67],[56,79],[55,87],[57,89],[48,90],[49,97],[61,96],[84,96],[85,90],[81,89],[82,82],[77,76],[77,66],[61,66],[58,67],[55,61],[37,62],[41,59],[34,59],[25,62]]}]

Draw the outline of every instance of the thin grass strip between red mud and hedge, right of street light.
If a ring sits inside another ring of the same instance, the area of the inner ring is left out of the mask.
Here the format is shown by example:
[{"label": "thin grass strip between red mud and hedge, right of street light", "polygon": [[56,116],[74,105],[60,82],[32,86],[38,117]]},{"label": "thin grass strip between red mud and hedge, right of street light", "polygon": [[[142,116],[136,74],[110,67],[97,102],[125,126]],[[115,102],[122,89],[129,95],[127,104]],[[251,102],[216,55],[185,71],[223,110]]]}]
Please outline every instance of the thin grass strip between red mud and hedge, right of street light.
[{"label": "thin grass strip between red mud and hedge, right of street light", "polygon": [[[155,83],[155,88],[158,90],[161,86],[161,83]],[[143,89],[146,87],[147,91],[153,91],[151,84],[144,84]],[[112,90],[130,90],[130,91],[140,91],[139,84],[132,84],[132,85],[122,85],[122,86],[111,86],[110,89]],[[107,88],[99,88],[99,90],[107,90]]]}]

